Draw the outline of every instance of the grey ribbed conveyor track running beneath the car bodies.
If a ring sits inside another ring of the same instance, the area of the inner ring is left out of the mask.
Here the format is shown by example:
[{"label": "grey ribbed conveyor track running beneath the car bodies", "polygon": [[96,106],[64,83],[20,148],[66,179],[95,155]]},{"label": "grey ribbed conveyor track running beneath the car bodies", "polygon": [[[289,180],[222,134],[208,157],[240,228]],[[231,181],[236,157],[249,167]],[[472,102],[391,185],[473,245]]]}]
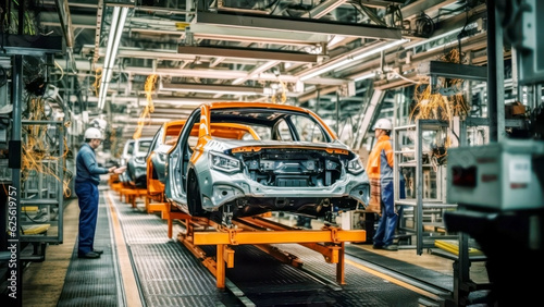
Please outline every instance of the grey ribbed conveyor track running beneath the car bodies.
[{"label": "grey ribbed conveyor track running beneath the car bodies", "polygon": [[[109,192],[112,193],[112,192]],[[139,204],[111,197],[128,246],[144,306],[421,306],[423,295],[356,267],[345,267],[345,284],[335,281],[336,265],[297,244],[279,248],[296,255],[302,268],[277,261],[252,245],[232,246],[234,268],[226,290],[177,240],[168,238],[166,221]],[[174,223],[174,233],[184,231]],[[202,246],[213,257],[214,245]]]}]

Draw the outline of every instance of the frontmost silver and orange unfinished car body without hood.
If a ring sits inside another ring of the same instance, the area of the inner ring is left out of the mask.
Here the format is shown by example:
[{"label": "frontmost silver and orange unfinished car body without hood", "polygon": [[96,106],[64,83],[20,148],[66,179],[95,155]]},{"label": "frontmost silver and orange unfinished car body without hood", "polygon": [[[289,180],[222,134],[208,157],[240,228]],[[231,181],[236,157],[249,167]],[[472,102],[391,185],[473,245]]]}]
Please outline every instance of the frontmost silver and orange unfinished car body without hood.
[{"label": "frontmost silver and orange unfinished car body without hood", "polygon": [[[213,135],[218,123],[247,126],[252,135]],[[370,193],[359,156],[316,113],[287,105],[201,105],[166,163],[166,200],[227,225],[268,211],[331,218],[368,205]]]}]

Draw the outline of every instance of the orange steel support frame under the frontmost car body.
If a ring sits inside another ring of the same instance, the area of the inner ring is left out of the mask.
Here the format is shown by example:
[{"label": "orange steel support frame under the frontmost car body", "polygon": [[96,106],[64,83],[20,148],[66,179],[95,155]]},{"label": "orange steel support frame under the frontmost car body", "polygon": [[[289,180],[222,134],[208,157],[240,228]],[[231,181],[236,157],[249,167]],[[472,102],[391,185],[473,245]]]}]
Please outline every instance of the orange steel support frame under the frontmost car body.
[{"label": "orange steel support frame under the frontmost car body", "polygon": [[[267,220],[262,217],[234,219],[236,228],[226,228],[205,218],[193,218],[189,214],[172,211],[166,204],[163,213],[169,222],[169,237],[172,237],[172,223],[174,219],[181,220],[186,228],[184,233],[177,235],[182,242],[202,265],[215,277],[217,286],[225,287],[225,266],[234,267],[234,250],[232,245],[252,244],[276,259],[300,267],[302,261],[286,251],[280,250],[271,244],[296,243],[321,253],[329,263],[336,263],[336,282],[345,284],[345,243],[364,242],[363,230],[342,230],[324,226],[321,230],[301,230]],[[215,245],[215,260],[206,256],[199,245]]]}]

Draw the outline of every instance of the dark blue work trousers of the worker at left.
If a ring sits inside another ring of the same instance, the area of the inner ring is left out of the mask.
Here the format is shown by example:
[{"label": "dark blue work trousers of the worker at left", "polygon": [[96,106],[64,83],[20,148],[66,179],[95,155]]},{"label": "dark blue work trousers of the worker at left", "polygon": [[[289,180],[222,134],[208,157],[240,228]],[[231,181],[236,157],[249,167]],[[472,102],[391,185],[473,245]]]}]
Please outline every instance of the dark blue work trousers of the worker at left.
[{"label": "dark blue work trousers of the worker at left", "polygon": [[75,194],[79,202],[77,254],[83,256],[94,249],[98,217],[98,186],[91,182],[76,182]]}]

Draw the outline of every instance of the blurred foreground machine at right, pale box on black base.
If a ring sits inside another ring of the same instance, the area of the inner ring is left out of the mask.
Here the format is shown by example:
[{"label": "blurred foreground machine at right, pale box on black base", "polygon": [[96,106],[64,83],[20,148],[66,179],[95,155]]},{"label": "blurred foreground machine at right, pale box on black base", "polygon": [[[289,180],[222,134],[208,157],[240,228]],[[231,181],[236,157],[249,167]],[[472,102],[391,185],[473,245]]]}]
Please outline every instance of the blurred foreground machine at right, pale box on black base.
[{"label": "blurred foreground machine at right, pale box on black base", "polygon": [[530,272],[544,269],[544,142],[508,139],[448,156],[449,231],[468,233],[487,256],[490,302],[537,299]]}]

